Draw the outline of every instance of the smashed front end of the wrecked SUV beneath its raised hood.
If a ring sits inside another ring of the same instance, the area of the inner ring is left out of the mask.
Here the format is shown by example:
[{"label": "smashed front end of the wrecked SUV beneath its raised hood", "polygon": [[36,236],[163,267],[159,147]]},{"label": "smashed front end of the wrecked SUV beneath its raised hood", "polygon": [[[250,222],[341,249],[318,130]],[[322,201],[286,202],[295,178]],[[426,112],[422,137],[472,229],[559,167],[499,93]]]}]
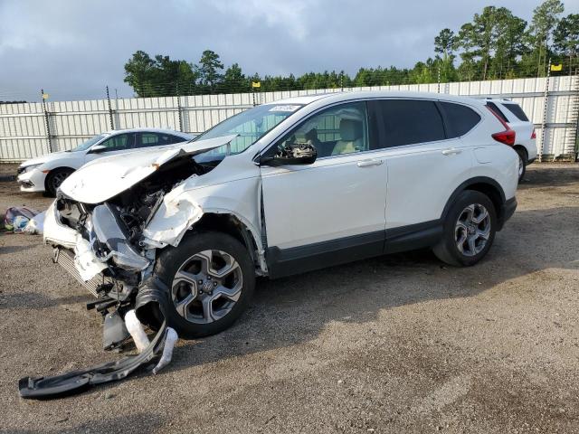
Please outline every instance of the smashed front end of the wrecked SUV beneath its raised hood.
[{"label": "smashed front end of the wrecked SUV beneath its raised hood", "polygon": [[212,168],[180,156],[102,203],[59,192],[44,230],[55,262],[95,297],[110,300],[109,306],[134,305],[138,288],[153,273],[157,249],[176,244],[203,214],[195,203],[173,200],[176,186]]}]

